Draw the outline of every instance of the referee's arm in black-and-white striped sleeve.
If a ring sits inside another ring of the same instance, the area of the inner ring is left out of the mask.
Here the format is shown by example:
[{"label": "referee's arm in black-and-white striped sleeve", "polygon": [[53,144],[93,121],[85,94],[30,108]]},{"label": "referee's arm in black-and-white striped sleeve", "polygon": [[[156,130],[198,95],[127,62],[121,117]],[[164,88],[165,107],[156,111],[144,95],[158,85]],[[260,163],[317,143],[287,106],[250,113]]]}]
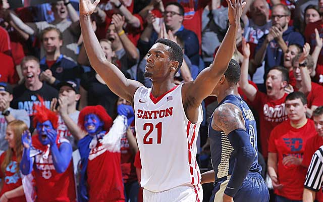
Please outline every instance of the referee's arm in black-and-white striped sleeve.
[{"label": "referee's arm in black-and-white striped sleeve", "polygon": [[315,194],[321,189],[323,175],[323,146],[313,155],[308,167],[303,191],[303,202],[313,202]]}]

